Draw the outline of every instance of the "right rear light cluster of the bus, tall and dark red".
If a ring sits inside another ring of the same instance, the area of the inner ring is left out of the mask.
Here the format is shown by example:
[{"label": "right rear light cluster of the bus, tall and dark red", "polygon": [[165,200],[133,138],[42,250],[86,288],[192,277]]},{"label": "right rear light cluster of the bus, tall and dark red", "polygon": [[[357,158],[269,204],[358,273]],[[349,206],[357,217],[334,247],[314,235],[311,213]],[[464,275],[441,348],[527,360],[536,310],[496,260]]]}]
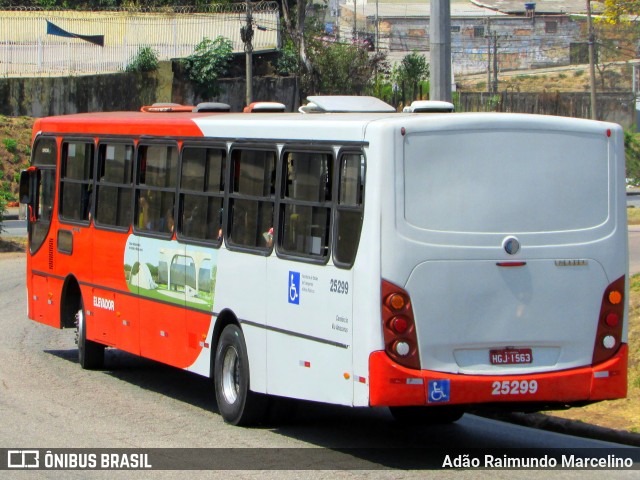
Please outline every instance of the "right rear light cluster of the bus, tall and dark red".
[{"label": "right rear light cluster of the bus, tall and dark red", "polygon": [[593,347],[592,365],[611,358],[620,347],[624,316],[625,277],[622,276],[607,287],[602,296],[598,330]]}]

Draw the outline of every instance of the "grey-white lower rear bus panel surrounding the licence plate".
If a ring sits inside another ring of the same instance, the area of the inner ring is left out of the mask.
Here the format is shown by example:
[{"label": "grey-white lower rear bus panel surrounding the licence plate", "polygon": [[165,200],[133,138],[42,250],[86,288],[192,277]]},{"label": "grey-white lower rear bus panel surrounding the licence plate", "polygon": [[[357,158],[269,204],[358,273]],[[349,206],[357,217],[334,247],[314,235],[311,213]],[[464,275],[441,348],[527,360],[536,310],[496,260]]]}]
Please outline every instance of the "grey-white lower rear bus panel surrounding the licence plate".
[{"label": "grey-white lower rear bus panel surrounding the licence plate", "polygon": [[[422,367],[449,373],[521,374],[591,363],[602,294],[602,267],[522,267],[496,261],[424,262],[412,272]],[[419,293],[418,293],[419,292]],[[448,299],[443,301],[443,299]],[[491,350],[531,349],[527,363],[491,363]]]}]

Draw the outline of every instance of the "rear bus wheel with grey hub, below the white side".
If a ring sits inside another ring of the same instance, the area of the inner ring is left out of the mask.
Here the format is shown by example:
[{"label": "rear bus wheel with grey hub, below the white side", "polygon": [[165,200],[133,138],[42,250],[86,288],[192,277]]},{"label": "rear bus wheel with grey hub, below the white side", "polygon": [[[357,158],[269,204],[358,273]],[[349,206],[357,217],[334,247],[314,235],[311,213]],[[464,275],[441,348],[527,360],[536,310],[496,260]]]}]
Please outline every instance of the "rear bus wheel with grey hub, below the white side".
[{"label": "rear bus wheel with grey hub, below the white side", "polygon": [[247,346],[237,325],[227,325],[220,335],[213,382],[218,410],[225,422],[248,426],[264,419],[268,397],[249,390]]}]

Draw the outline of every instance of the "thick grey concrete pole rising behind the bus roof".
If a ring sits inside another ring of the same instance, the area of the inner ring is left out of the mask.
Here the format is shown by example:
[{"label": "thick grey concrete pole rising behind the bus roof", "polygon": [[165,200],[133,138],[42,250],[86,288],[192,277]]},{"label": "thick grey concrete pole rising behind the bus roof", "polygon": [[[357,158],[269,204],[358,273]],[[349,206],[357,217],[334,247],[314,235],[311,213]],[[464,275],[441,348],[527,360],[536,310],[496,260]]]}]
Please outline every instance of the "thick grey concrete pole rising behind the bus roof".
[{"label": "thick grey concrete pole rising behind the bus roof", "polygon": [[431,0],[431,100],[451,101],[451,6],[449,0]]}]

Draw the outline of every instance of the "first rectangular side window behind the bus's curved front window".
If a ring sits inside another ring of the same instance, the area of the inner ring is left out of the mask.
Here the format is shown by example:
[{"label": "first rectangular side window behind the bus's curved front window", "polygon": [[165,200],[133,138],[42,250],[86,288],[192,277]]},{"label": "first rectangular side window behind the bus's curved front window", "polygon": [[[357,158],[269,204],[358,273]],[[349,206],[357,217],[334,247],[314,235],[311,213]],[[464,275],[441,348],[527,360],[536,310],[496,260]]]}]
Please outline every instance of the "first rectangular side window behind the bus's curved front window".
[{"label": "first rectangular side window behind the bus's curved front window", "polygon": [[60,217],[88,222],[93,200],[93,142],[62,144],[60,175]]}]

